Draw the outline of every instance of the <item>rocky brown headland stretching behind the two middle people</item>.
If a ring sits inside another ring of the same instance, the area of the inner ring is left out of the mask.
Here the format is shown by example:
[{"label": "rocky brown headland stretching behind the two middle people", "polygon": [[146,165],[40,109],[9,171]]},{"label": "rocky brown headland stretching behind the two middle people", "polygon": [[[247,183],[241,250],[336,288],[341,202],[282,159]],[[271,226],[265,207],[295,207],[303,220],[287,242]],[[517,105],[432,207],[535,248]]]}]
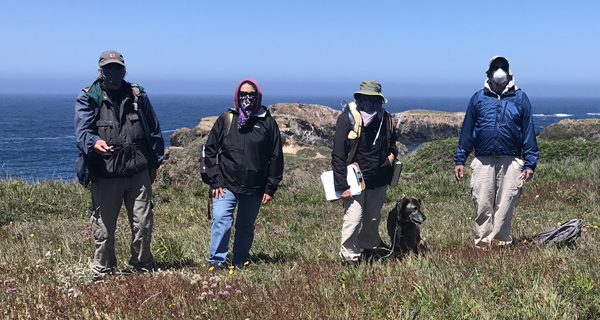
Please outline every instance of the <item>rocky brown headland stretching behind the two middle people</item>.
[{"label": "rocky brown headland stretching behind the two middle people", "polygon": [[[335,123],[339,110],[302,103],[269,106],[281,131],[286,153],[286,175],[300,176],[329,170]],[[410,110],[392,115],[398,132],[399,157],[408,153],[404,144],[456,137],[464,113]],[[217,116],[203,118],[192,129],[181,128],[171,135],[171,147],[158,178],[166,183],[189,184],[200,181],[198,157],[202,144]]]}]

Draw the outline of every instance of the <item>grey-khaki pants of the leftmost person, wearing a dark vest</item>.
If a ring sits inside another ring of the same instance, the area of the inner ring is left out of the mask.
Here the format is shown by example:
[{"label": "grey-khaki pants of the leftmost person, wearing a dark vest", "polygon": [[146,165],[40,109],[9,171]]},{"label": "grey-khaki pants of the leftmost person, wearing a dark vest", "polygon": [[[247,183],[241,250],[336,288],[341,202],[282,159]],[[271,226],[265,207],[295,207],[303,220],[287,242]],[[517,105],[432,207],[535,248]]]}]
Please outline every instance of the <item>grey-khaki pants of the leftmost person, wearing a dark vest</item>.
[{"label": "grey-khaki pants of the leftmost person, wearing a dark vest", "polygon": [[94,273],[107,273],[117,266],[115,229],[121,205],[125,202],[131,227],[131,259],[134,269],[154,268],[150,252],[152,227],[152,184],[148,170],[129,178],[94,178],[92,189],[92,235],[96,242]]}]

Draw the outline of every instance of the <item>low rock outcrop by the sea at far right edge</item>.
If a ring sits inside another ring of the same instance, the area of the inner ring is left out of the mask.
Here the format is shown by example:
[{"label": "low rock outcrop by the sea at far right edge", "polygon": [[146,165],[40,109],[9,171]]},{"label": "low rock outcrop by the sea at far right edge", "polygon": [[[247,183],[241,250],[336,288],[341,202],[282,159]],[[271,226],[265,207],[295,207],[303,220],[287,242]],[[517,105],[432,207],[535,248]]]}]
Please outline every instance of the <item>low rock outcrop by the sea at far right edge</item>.
[{"label": "low rock outcrop by the sea at far right edge", "polygon": [[538,136],[546,140],[600,141],[600,119],[561,120],[547,126]]}]

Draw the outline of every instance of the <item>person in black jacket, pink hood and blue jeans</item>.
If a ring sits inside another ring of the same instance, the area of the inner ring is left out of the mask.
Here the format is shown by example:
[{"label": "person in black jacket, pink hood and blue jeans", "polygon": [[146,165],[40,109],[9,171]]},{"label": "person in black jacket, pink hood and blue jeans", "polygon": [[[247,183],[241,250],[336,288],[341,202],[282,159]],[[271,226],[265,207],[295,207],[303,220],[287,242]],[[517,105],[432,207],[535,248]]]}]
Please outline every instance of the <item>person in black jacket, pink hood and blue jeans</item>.
[{"label": "person in black jacket, pink hood and blue jeans", "polygon": [[208,258],[213,269],[225,267],[236,205],[232,262],[250,263],[254,221],[283,176],[279,127],[261,101],[258,83],[242,80],[235,89],[234,109],[217,118],[206,142],[206,172],[215,198]]}]

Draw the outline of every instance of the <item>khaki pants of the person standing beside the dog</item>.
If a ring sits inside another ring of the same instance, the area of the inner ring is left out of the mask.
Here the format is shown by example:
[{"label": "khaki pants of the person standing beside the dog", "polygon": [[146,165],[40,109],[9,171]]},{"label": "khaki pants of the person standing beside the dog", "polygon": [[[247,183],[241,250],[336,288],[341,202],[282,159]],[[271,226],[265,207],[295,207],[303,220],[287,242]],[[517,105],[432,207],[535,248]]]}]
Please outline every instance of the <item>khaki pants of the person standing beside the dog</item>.
[{"label": "khaki pants of the person standing beside the dog", "polygon": [[387,186],[373,190],[365,189],[360,195],[344,201],[340,256],[345,261],[358,260],[361,248],[374,250],[381,243],[379,220],[386,191]]}]

